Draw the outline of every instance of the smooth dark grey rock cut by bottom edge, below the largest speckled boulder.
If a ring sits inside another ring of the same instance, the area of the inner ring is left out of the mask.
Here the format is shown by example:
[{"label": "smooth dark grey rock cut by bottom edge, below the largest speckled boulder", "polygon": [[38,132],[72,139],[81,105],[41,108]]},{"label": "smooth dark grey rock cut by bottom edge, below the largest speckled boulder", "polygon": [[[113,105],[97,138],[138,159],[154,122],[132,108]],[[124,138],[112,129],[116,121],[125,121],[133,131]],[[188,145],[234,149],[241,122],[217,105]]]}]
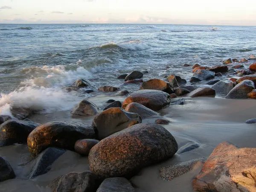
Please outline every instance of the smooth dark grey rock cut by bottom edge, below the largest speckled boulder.
[{"label": "smooth dark grey rock cut by bottom edge, below the largest speckled boulder", "polygon": [[125,177],[112,177],[105,179],[96,192],[135,192],[135,190]]}]

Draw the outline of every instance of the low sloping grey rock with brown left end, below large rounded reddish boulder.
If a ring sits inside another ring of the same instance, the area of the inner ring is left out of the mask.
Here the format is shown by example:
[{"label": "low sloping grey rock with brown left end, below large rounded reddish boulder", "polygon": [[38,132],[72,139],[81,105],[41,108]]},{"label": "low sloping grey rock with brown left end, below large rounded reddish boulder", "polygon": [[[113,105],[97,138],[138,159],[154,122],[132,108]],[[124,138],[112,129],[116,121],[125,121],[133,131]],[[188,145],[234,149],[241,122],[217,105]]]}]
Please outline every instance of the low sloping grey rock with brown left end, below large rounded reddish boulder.
[{"label": "low sloping grey rock with brown left end, below large rounded reddish boulder", "polygon": [[130,113],[137,113],[142,119],[148,118],[150,116],[157,116],[159,113],[146,108],[144,105],[141,105],[139,103],[130,103],[126,106],[125,111],[128,111]]}]

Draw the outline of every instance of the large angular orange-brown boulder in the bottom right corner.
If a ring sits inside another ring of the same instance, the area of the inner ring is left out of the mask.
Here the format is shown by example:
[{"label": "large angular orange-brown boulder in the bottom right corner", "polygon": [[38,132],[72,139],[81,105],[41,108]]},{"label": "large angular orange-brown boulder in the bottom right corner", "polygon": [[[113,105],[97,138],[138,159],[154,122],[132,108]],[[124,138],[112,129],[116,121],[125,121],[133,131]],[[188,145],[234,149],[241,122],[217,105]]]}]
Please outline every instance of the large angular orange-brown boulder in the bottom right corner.
[{"label": "large angular orange-brown boulder in the bottom right corner", "polygon": [[256,148],[219,144],[193,180],[197,192],[256,191]]}]

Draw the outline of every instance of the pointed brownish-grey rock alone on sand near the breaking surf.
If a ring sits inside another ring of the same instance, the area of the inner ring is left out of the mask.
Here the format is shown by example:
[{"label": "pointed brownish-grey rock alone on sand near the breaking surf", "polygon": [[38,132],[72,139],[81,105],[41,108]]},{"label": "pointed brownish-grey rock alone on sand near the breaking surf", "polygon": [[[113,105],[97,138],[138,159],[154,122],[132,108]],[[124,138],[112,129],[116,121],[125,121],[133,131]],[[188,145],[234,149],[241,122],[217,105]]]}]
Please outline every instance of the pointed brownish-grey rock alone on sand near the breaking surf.
[{"label": "pointed brownish-grey rock alone on sand near the breaking surf", "polygon": [[87,100],[82,100],[75,108],[71,111],[73,116],[90,116],[99,113],[98,107]]}]

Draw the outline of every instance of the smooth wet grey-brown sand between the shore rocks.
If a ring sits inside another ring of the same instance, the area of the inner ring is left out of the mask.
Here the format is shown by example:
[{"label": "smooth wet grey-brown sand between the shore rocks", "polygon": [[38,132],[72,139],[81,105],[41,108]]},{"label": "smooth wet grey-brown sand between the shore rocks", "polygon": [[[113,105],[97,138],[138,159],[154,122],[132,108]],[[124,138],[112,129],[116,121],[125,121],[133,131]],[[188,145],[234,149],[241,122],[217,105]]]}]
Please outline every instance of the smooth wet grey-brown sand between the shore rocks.
[{"label": "smooth wet grey-brown sand between the shore rocks", "polygon": [[[104,107],[108,99],[124,100],[124,97],[114,98],[109,96],[97,96],[88,99],[99,108]],[[247,119],[255,118],[256,100],[253,99],[223,99],[223,98],[185,98],[184,105],[174,105],[162,109],[161,116],[169,119],[169,125],[163,125],[177,140],[179,148],[188,142],[195,141],[201,144],[199,148],[192,151],[175,154],[171,159],[149,166],[131,178],[136,187],[136,192],[193,192],[192,179],[201,169],[187,172],[172,181],[160,179],[159,169],[162,166],[172,165],[198,157],[208,157],[216,145],[228,141],[239,147],[256,147],[256,125],[245,124]],[[144,119],[143,122],[154,122],[159,116]],[[49,122],[53,119],[70,120],[68,111],[49,114],[47,116],[35,115],[30,118],[37,122]],[[91,123],[93,116],[84,119],[72,119]],[[72,151],[62,155],[52,165],[52,169],[44,175],[28,180],[29,174],[26,163],[30,155],[26,145],[11,145],[0,148],[0,156],[9,161],[13,167],[16,179],[6,180],[0,183],[0,192],[45,192],[47,184],[56,177],[65,173],[89,170],[87,157],[81,157]]]}]

